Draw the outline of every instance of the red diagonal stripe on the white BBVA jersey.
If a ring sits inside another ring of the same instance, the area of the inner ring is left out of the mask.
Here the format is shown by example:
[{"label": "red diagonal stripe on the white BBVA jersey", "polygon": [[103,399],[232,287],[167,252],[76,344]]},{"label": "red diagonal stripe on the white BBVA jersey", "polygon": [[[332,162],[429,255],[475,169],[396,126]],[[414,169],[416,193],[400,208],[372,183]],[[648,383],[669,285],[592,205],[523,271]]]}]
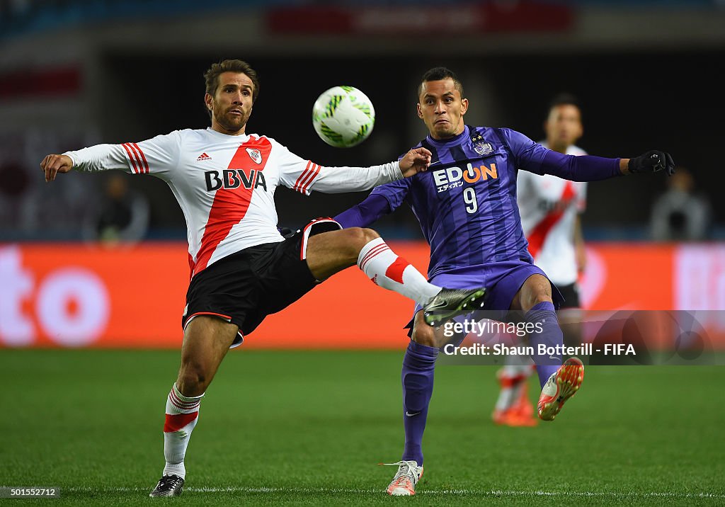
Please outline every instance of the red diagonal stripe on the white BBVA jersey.
[{"label": "red diagonal stripe on the white BBVA jersey", "polygon": [[[262,163],[255,164],[249,158],[249,154],[246,151],[247,148],[260,150]],[[265,168],[271,151],[272,144],[268,139],[263,137],[260,139],[250,139],[237,148],[231,162],[229,162],[228,168],[244,170],[244,173],[247,173],[247,176],[249,176],[252,169],[256,169],[259,172]],[[236,189],[222,188],[216,191],[214,194],[214,202],[212,202],[212,207],[209,210],[207,226],[204,228],[202,246],[199,247],[199,252],[196,253],[194,275],[207,267],[218,244],[228,236],[231,228],[236,226],[244,218],[244,215],[247,215],[249,202],[251,200],[252,189],[244,188],[244,185],[239,185]]]}]

